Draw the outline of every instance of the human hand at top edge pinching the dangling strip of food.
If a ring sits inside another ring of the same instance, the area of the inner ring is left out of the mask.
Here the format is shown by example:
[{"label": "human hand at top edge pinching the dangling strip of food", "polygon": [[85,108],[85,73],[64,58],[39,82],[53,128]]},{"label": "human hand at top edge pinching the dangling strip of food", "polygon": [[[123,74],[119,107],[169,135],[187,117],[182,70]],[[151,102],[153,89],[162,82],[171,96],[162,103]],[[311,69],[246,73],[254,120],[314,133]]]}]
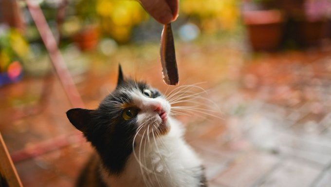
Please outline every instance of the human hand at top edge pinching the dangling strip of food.
[{"label": "human hand at top edge pinching the dangling strip of food", "polygon": [[170,23],[177,19],[178,0],[139,0],[145,10],[158,22]]}]

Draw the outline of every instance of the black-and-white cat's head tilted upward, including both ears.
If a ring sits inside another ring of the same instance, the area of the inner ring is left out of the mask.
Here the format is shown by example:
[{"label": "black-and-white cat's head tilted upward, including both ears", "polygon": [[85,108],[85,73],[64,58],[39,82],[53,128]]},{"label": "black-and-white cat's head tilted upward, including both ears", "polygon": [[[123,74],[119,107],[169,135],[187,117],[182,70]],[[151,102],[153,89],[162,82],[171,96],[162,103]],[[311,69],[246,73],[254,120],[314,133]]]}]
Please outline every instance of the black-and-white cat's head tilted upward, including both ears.
[{"label": "black-and-white cat's head tilted upward, including both ears", "polygon": [[119,66],[116,89],[96,110],[71,109],[67,116],[94,146],[107,146],[104,142],[129,144],[148,133],[165,135],[170,130],[169,112],[170,104],[159,91],[126,78]]}]

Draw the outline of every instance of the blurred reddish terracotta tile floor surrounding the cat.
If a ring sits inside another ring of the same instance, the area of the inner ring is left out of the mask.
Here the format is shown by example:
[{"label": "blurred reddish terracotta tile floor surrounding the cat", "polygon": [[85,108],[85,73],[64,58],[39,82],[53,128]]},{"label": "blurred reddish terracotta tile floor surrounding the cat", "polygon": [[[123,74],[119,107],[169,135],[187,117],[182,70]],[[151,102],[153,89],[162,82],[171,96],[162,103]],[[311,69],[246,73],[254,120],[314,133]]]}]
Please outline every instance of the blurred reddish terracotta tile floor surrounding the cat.
[{"label": "blurred reddish terracotta tile floor surrounding the cat", "polygon": [[[253,57],[217,42],[178,49],[181,84],[205,82],[199,84],[204,96],[221,109],[222,119],[179,116],[211,187],[330,187],[330,48]],[[119,62],[125,73],[165,92],[158,47],[150,55],[128,50],[102,63],[91,58],[91,70],[75,76],[87,108],[114,88]],[[0,131],[12,154],[54,137],[69,139],[69,146],[15,163],[24,186],[73,186],[92,148],[72,135],[65,116],[71,106],[55,76],[3,87],[0,103]],[[216,110],[214,104],[206,107]]]}]

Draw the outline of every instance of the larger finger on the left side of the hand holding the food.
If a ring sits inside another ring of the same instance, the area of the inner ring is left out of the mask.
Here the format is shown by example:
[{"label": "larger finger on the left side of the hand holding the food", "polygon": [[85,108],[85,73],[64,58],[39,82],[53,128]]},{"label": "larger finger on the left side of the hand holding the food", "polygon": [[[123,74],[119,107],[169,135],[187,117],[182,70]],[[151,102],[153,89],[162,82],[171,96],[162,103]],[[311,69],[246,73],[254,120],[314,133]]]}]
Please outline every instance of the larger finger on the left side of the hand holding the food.
[{"label": "larger finger on the left side of the hand holding the food", "polygon": [[167,24],[173,19],[172,11],[165,0],[140,0],[140,2],[158,22]]}]

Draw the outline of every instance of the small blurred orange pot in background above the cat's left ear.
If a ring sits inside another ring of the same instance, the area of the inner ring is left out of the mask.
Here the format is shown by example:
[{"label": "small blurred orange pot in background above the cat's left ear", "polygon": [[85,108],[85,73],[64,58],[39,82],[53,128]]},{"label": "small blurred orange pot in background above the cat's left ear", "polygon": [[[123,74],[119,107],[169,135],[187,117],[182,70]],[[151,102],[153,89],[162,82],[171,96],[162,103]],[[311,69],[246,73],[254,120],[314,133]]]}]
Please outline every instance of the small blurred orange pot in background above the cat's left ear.
[{"label": "small blurred orange pot in background above the cat's left ear", "polygon": [[74,42],[82,51],[95,49],[98,41],[99,31],[94,26],[85,27],[74,35]]}]

